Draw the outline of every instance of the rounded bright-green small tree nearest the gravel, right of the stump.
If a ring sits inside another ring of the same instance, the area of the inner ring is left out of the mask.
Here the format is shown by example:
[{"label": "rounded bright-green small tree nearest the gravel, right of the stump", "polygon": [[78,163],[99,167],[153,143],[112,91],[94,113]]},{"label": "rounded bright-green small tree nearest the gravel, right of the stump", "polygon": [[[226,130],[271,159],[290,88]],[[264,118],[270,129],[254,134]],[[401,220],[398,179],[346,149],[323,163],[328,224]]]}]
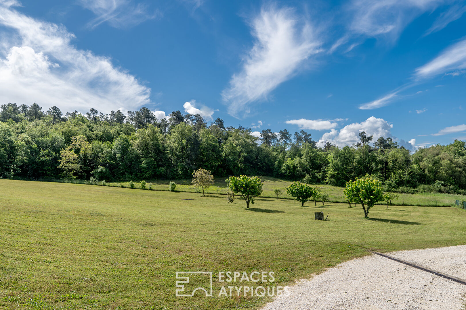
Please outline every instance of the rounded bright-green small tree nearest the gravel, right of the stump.
[{"label": "rounded bright-green small tree nearest the gravel, right of the stump", "polygon": [[[348,201],[361,204],[364,217],[369,218],[369,210],[379,201],[384,200],[384,190],[379,180],[373,178],[355,178],[346,182],[343,196]],[[366,208],[367,206],[367,208]]]}]

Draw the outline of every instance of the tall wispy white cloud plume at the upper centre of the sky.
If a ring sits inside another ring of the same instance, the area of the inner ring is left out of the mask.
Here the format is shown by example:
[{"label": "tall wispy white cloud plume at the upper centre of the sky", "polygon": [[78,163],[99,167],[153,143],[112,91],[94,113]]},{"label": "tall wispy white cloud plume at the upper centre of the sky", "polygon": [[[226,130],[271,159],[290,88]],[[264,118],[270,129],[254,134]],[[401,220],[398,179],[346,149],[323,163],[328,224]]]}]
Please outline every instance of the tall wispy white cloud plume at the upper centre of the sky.
[{"label": "tall wispy white cloud plume at the upper centre of the sky", "polygon": [[319,53],[315,29],[291,8],[262,7],[252,21],[254,46],[240,73],[234,74],[222,92],[234,117],[251,112],[251,102],[266,99],[269,92],[294,76],[311,55]]}]

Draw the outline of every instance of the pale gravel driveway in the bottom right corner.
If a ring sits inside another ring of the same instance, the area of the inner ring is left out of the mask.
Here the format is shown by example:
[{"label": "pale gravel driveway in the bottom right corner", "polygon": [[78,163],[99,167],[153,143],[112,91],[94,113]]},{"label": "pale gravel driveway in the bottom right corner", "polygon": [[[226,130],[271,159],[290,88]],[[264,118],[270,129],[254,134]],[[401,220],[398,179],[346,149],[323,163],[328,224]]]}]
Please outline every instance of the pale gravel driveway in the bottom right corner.
[{"label": "pale gravel driveway in the bottom right corner", "polygon": [[[466,279],[466,245],[390,256]],[[262,310],[461,310],[466,285],[378,255],[356,258],[301,280]]]}]

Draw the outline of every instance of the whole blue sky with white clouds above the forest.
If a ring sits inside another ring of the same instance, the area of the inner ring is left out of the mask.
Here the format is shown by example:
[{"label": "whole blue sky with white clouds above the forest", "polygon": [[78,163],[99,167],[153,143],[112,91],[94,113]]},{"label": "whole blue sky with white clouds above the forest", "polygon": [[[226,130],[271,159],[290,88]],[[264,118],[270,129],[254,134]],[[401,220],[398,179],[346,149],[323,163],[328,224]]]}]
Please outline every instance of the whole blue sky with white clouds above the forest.
[{"label": "whole blue sky with white clouds above the forest", "polygon": [[466,140],[466,0],[0,0],[0,103]]}]

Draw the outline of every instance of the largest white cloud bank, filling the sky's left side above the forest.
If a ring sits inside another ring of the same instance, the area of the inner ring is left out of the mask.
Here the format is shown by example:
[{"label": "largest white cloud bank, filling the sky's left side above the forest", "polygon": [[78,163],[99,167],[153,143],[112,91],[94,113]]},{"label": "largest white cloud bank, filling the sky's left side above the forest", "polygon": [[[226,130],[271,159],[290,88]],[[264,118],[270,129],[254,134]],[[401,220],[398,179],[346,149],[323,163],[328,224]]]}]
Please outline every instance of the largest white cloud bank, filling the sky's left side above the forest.
[{"label": "largest white cloud bank, filling the sky's left side above the forest", "polygon": [[[0,26],[10,40],[0,45],[0,101],[38,103],[45,109],[101,112],[151,103],[150,88],[107,57],[79,50],[65,27],[35,20],[0,1]],[[5,35],[5,33],[3,33]]]}]

